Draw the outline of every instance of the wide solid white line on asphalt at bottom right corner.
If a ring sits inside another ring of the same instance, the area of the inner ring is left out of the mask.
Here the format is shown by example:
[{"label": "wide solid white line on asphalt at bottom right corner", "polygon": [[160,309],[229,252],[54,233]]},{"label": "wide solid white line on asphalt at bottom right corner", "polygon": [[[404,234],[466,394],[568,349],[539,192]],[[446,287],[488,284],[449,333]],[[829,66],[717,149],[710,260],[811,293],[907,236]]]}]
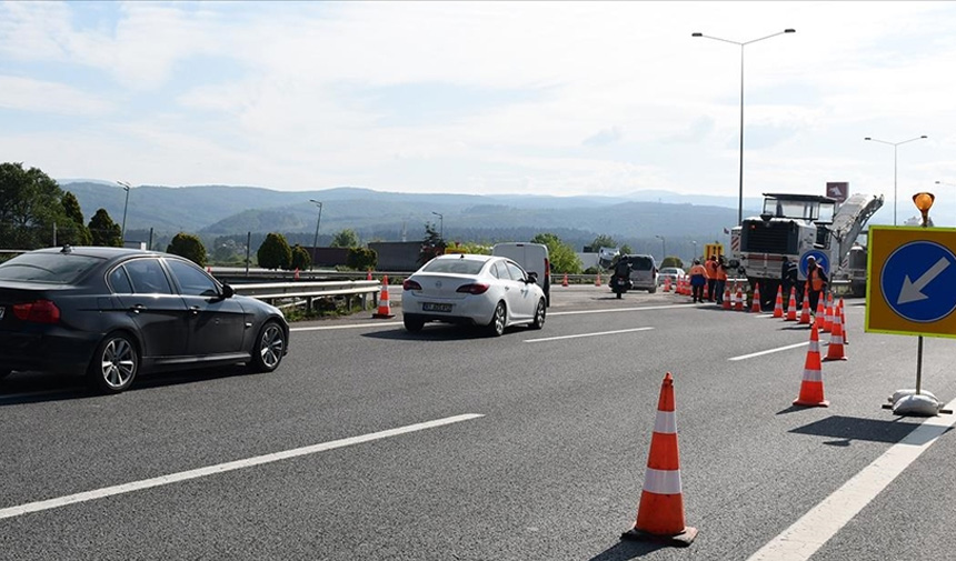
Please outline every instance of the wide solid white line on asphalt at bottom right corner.
[{"label": "wide solid white line on asphalt at bottom right corner", "polygon": [[[952,409],[956,400],[946,409]],[[930,417],[779,535],[748,561],[805,561],[843,529],[910,463],[956,424],[956,415]]]}]

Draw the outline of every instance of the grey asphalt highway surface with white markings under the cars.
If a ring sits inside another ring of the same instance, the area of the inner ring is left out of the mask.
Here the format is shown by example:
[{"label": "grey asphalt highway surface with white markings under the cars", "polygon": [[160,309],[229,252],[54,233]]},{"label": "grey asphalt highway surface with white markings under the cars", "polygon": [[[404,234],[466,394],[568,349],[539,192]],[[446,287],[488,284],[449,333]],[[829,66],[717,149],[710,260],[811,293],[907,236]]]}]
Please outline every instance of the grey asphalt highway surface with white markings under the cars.
[{"label": "grey asphalt highway surface with white markings under the cars", "polygon": [[[400,290],[390,298],[392,320],[296,324],[271,374],[159,374],[114,397],[11,375],[0,384],[0,559],[956,551],[953,432],[880,408],[914,385],[917,343],[864,333],[862,300],[847,301],[848,360],[823,365],[830,407],[804,409],[791,402],[809,332],[768,314],[556,285],[544,330],[410,334]],[[954,362],[956,341],[926,339],[924,389],[944,402],[956,397]],[[666,372],[686,521],[699,531],[687,549],[619,541],[637,514]],[[803,533],[780,541],[795,523]]]}]

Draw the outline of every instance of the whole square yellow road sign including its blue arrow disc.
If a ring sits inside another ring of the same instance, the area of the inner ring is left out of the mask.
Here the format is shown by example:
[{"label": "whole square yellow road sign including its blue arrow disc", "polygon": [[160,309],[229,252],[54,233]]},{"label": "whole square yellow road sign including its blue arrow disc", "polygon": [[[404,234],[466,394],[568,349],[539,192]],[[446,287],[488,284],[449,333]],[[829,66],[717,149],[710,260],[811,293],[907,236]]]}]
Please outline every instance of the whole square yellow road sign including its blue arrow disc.
[{"label": "whole square yellow road sign including its blue arrow disc", "polygon": [[866,331],[956,338],[956,229],[870,227]]}]

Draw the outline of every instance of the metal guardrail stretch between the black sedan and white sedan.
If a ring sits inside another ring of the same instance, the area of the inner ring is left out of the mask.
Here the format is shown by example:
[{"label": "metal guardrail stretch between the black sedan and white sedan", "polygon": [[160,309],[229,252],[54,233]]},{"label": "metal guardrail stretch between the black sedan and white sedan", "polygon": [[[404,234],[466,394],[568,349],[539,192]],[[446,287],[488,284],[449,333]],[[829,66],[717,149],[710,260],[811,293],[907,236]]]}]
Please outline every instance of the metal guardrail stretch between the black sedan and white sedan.
[{"label": "metal guardrail stretch between the black sedan and white sedan", "polygon": [[262,282],[250,284],[231,284],[238,294],[252,297],[273,305],[280,305],[282,300],[291,300],[280,307],[301,305],[312,308],[317,299],[346,297],[351,299],[358,297],[362,302],[362,309],[368,307],[369,297],[372,304],[378,303],[378,294],[381,292],[381,283],[376,280],[361,281],[328,281],[328,282]]}]

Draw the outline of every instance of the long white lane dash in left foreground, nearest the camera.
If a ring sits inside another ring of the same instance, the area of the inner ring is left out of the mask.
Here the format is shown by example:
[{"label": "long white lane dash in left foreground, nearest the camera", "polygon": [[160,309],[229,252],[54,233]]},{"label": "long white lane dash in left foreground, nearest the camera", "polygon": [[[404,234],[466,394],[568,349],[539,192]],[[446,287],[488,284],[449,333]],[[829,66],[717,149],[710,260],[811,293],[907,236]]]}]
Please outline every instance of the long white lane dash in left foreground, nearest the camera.
[{"label": "long white lane dash in left foreground, nearest the camera", "polygon": [[328,450],[332,450],[336,448],[343,448],[353,444],[361,444],[364,442],[371,442],[374,440],[380,440],[389,437],[397,437],[399,434],[406,434],[409,432],[421,431],[426,429],[434,429],[436,427],[442,427],[446,424],[452,424],[461,421],[470,421],[472,419],[478,419],[485,417],[484,414],[460,414],[456,417],[447,417],[445,419],[437,419],[435,421],[426,421],[416,424],[409,424],[406,427],[399,427],[397,429],[388,429],[380,432],[372,432],[370,434],[362,434],[360,437],[351,437],[341,440],[332,440],[330,442],[323,442],[321,444],[313,444],[310,447],[296,448],[293,450],[286,450],[283,452],[275,452],[271,454],[257,455],[253,458],[247,458],[245,460],[237,460],[232,462],[219,463],[216,465],[209,465],[206,468],[199,468],[196,470],[181,471],[179,473],[170,473],[168,475],[160,475],[158,478],[145,479],[141,481],[133,481],[130,483],[123,483],[120,485],[104,487],[102,489],[96,489],[93,491],[86,491],[82,493],[68,494],[66,497],[58,497],[56,499],[48,499],[46,501],[37,501],[29,502],[26,504],[20,504],[17,507],[9,507],[6,509],[0,509],[0,520],[4,518],[13,518],[22,514],[27,514],[30,512],[38,512],[41,510],[56,509],[59,507],[66,507],[67,504],[73,504],[78,502],[92,501],[96,499],[102,499],[104,497],[112,497],[116,494],[131,493],[133,491],[140,491],[142,489],[149,489],[152,487],[161,487],[168,485],[170,483],[178,483],[180,481],[187,481],[190,479],[205,478],[207,475],[215,475],[217,473],[225,473],[227,471],[240,470],[245,468],[251,468],[253,465],[261,465],[263,463],[277,462],[280,460],[288,460],[289,458],[298,458],[300,455],[313,454],[317,452],[325,452]]}]

